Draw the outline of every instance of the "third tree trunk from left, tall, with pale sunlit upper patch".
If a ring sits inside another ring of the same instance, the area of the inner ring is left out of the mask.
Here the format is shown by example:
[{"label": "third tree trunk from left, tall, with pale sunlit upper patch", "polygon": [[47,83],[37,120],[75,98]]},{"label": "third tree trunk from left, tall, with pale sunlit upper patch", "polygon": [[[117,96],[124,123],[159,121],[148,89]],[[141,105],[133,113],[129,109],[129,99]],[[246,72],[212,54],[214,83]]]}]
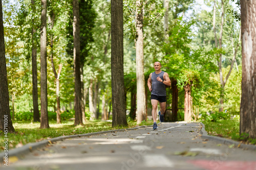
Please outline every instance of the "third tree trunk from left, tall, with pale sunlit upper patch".
[{"label": "third tree trunk from left, tall, with pale sunlit upper patch", "polygon": [[48,100],[47,100],[47,0],[41,0],[41,37],[40,37],[40,60],[41,60],[41,123],[40,128],[49,127]]}]

